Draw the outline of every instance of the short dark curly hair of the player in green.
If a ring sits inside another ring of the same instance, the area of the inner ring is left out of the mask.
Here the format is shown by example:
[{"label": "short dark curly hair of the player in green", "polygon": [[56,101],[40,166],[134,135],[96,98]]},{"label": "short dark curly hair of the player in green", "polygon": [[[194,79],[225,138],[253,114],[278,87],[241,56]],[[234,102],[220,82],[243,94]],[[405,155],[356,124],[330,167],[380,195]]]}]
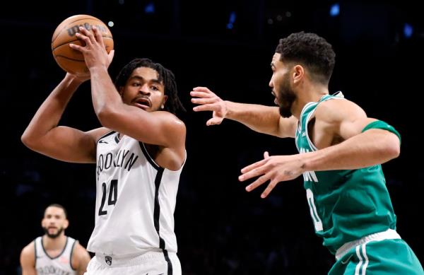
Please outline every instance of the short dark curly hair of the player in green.
[{"label": "short dark curly hair of the player in green", "polygon": [[300,62],[320,83],[329,83],[336,54],[323,37],[314,33],[292,33],[282,38],[276,48],[283,62]]}]

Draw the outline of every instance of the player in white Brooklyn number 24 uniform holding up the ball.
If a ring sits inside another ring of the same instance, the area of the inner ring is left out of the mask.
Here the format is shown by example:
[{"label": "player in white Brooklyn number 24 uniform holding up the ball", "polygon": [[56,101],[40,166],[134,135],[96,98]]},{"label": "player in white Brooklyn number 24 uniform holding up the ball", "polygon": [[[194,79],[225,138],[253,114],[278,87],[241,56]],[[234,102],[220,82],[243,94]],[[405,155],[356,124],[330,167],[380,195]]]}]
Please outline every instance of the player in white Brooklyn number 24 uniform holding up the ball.
[{"label": "player in white Brooklyn number 24 uniform holding up the ball", "polygon": [[100,33],[80,28],[90,70],[95,114],[103,127],[59,127],[78,86],[88,78],[66,74],[39,108],[22,141],[59,160],[96,163],[95,228],[88,275],[181,274],[174,233],[179,175],[186,159],[184,110],[174,74],[150,59],[126,64],[114,83],[107,73],[113,52]]}]

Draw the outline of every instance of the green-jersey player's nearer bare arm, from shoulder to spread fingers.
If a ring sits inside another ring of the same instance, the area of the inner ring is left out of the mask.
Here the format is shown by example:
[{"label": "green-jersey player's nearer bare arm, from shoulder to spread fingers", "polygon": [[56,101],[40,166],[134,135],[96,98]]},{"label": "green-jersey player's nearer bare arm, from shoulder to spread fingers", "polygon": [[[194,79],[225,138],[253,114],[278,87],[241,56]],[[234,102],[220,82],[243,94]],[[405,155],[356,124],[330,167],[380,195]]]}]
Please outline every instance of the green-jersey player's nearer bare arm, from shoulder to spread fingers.
[{"label": "green-jersey player's nearer bare arm, from shoulder to spread fingers", "polygon": [[264,160],[242,169],[240,181],[258,177],[246,187],[247,191],[270,181],[261,194],[264,198],[278,182],[293,180],[306,171],[354,170],[382,164],[399,156],[398,136],[384,129],[363,132],[367,124],[376,119],[367,117],[358,105],[348,100],[329,100],[322,103],[317,108],[316,120],[314,128],[321,128],[324,136],[339,136],[343,141],[309,153],[265,156]]}]

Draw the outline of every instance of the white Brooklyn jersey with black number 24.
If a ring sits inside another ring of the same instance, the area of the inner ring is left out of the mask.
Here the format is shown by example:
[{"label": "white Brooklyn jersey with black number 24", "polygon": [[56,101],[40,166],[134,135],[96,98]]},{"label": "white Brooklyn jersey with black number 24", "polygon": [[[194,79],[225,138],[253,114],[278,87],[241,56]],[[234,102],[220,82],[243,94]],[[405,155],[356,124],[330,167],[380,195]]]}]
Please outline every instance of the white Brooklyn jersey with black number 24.
[{"label": "white Brooklyn jersey with black number 24", "polygon": [[106,255],[177,252],[179,175],[157,165],[142,142],[112,131],[98,140],[95,228],[88,250]]}]

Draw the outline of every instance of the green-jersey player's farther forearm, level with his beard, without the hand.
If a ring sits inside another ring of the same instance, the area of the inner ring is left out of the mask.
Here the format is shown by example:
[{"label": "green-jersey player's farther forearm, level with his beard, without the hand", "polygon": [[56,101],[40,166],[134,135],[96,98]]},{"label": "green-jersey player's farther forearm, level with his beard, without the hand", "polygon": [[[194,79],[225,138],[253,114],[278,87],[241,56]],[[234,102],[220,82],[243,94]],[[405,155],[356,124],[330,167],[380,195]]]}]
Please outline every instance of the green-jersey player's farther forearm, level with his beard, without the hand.
[{"label": "green-jersey player's farther forearm, level with his beard, without the hand", "polygon": [[227,115],[225,118],[232,119],[259,133],[278,136],[280,114],[278,107],[233,103],[225,101]]}]

